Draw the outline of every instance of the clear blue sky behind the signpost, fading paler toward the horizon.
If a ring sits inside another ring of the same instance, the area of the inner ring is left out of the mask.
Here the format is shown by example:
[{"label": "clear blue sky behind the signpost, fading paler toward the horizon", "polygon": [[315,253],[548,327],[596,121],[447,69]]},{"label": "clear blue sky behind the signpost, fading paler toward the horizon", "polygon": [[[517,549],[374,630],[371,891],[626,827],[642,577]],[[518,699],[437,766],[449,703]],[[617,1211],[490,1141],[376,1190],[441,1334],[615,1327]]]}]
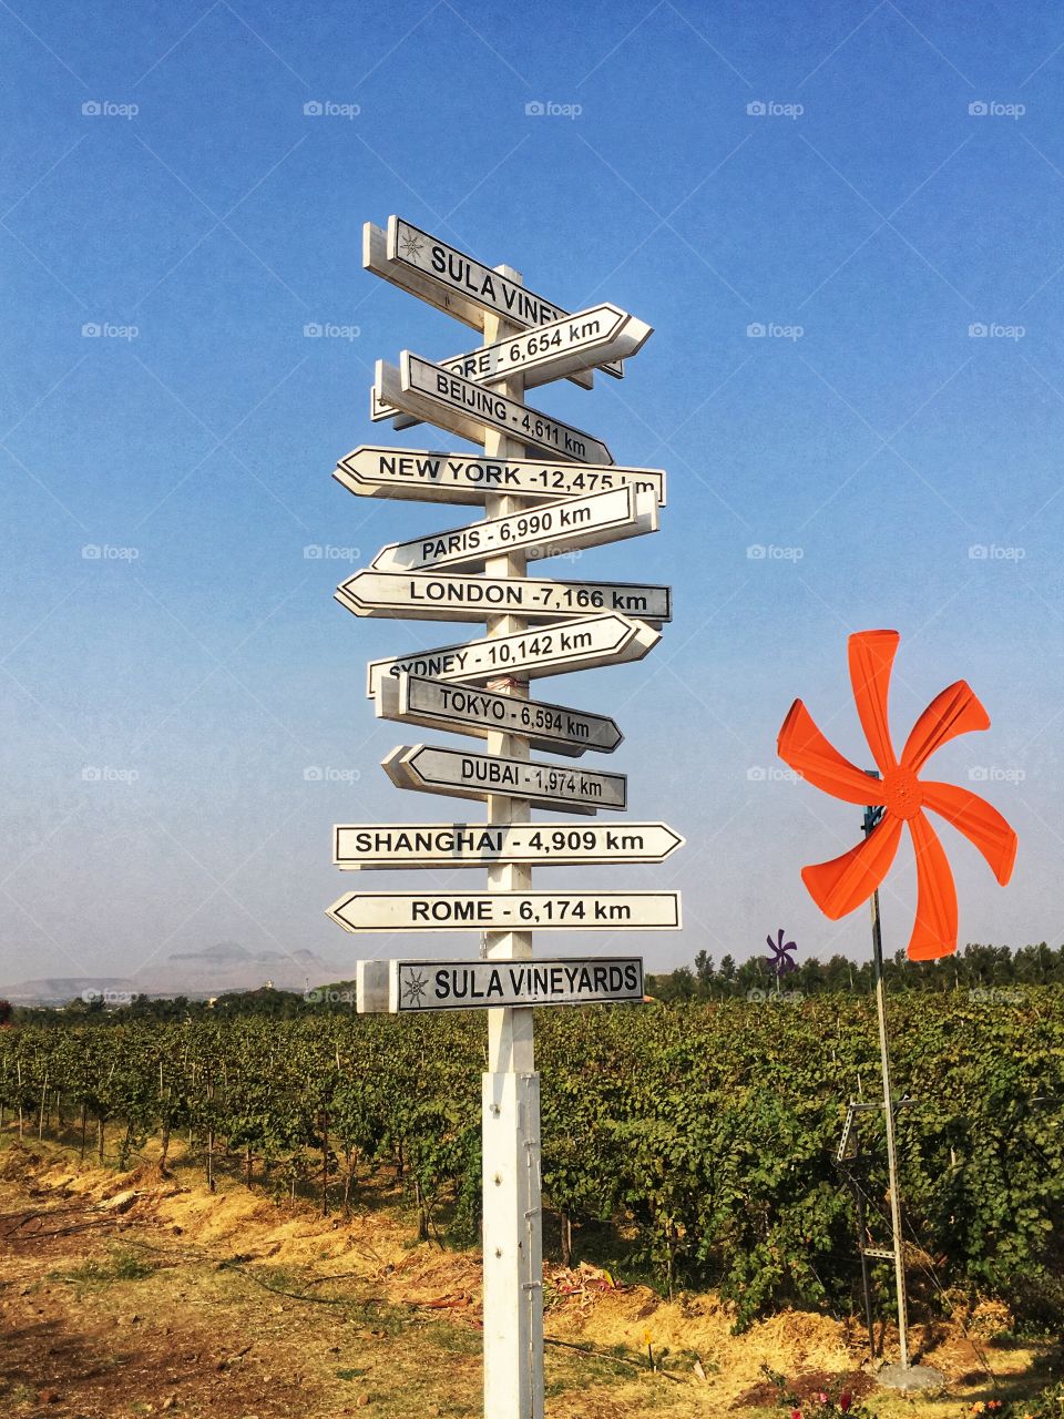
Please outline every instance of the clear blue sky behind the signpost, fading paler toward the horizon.
[{"label": "clear blue sky behind the signpost, fading paler toward the horizon", "polygon": [[[323,917],[355,885],[331,824],[448,816],[377,768],[403,731],[375,724],[363,663],[462,631],[331,597],[470,509],[329,474],[424,440],[369,423],[375,359],[474,338],[363,272],[362,223],[389,213],[655,326],[623,385],[532,402],[668,470],[660,534],[559,575],[672,582],[677,617],[641,664],[539,691],[621,722],[589,766],[689,846],[543,884],[681,887],[687,929],[638,942],[651,968],[780,925],[863,956],[864,911],[827,922],[799,878],[860,815],[790,782],[775,739],[802,695],[865,762],[846,637],[892,626],[895,738],[968,678],[993,727],[935,776],[982,782],[1020,834],[1002,890],[943,832],[962,941],[1061,941],[1057,7],[0,0],[0,982],[221,939],[401,954]],[[888,949],[912,905],[904,850]]]}]

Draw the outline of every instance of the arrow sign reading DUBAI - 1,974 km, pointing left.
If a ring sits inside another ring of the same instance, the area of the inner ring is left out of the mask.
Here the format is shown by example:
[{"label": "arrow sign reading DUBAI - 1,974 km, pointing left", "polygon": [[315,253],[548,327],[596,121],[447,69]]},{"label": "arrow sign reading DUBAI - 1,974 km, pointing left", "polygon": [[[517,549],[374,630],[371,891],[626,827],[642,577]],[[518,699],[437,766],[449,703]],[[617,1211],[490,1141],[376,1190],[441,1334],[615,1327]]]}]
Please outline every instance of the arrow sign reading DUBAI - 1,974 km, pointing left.
[{"label": "arrow sign reading DUBAI - 1,974 km, pointing left", "polygon": [[529,799],[536,807],[596,813],[628,803],[624,773],[600,773],[559,763],[506,759],[499,753],[465,753],[431,744],[400,745],[382,762],[399,789],[487,800],[492,793]]}]

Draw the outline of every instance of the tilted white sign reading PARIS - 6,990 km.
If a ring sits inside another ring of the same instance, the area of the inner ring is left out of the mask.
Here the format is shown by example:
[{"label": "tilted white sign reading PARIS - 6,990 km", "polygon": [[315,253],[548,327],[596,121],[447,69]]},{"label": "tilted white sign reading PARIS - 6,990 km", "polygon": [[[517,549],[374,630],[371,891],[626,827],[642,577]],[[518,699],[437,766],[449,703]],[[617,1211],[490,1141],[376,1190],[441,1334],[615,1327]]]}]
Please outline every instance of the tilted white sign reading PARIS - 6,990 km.
[{"label": "tilted white sign reading PARIS - 6,990 km", "polygon": [[562,556],[575,548],[623,542],[657,532],[653,492],[616,488],[586,498],[485,518],[468,526],[430,532],[409,542],[390,542],[373,558],[375,572],[417,572],[445,566],[482,566],[491,556],[523,551],[529,561]]}]

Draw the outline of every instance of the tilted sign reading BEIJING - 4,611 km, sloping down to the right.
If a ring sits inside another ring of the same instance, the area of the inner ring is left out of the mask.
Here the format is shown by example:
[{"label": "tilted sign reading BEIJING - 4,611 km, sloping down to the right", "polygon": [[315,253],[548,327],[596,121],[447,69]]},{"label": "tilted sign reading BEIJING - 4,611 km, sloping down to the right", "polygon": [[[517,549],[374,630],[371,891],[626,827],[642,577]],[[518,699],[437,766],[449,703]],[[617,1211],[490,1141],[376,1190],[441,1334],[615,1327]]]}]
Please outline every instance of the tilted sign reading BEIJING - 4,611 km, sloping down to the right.
[{"label": "tilted sign reading BEIJING - 4,611 km, sloping down to the right", "polygon": [[538,409],[474,385],[461,375],[448,375],[410,350],[403,350],[399,360],[399,369],[384,360],[376,363],[376,397],[387,404],[428,419],[440,429],[472,443],[482,444],[485,429],[494,429],[570,463],[613,463],[606,444],[582,429],[573,429]]}]

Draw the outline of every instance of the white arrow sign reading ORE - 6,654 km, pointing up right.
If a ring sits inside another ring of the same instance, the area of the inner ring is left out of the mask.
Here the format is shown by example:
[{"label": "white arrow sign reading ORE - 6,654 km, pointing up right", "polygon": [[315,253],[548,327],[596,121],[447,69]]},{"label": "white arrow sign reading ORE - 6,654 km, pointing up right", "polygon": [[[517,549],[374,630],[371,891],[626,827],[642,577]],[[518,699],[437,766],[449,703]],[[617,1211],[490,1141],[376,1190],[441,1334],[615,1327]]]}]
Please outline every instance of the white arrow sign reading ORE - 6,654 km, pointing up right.
[{"label": "white arrow sign reading ORE - 6,654 km, pointing up right", "polygon": [[[603,302],[560,321],[548,321],[523,335],[495,345],[484,345],[467,355],[437,360],[441,369],[462,375],[475,385],[494,385],[511,375],[521,375],[525,389],[535,389],[552,379],[594,369],[607,359],[636,355],[653,335],[650,325]],[[396,429],[409,427],[401,410],[373,399],[370,419],[399,419]]]}]

